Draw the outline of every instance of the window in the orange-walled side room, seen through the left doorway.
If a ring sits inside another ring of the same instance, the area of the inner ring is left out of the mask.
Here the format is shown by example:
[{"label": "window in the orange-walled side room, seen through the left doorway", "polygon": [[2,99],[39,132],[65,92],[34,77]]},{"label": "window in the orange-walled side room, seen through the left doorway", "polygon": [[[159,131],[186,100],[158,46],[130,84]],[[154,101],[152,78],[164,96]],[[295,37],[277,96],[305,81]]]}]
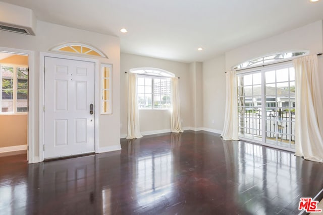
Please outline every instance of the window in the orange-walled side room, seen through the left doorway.
[{"label": "window in the orange-walled side room, seen through the left doorway", "polygon": [[28,67],[0,65],[0,111],[18,113],[28,111]]}]

